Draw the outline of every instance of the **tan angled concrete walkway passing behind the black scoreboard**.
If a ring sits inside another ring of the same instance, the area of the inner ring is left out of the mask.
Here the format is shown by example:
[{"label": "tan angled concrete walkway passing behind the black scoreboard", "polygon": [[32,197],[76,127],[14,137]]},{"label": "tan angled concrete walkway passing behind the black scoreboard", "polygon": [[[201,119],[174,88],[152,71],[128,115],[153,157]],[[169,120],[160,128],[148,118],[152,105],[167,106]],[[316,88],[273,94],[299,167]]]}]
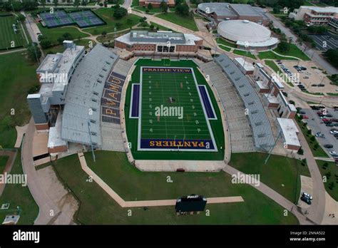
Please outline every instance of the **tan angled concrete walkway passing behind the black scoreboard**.
[{"label": "tan angled concrete walkway passing behind the black scoreboard", "polygon": [[[98,177],[90,167],[88,167],[86,158],[83,153],[78,153],[78,160],[80,160],[82,170],[86,172],[93,180],[102,187],[104,191],[110,195],[121,207],[159,207],[159,206],[174,206],[176,200],[144,200],[144,201],[125,201],[116,193],[109,185],[104,182],[101,177]],[[244,202],[241,196],[237,197],[210,197],[208,204],[227,203],[227,202]]]}]

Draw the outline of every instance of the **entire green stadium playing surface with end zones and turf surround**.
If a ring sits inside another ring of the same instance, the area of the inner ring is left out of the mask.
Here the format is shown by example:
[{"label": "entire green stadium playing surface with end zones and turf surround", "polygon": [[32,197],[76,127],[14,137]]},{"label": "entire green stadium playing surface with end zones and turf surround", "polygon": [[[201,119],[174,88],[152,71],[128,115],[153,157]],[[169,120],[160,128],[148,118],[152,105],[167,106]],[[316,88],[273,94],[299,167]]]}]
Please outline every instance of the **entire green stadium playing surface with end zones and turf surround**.
[{"label": "entire green stadium playing surface with end zones and turf surround", "polygon": [[[126,99],[128,123],[133,123],[127,126],[127,135],[134,157],[165,151],[175,153],[178,159],[192,160],[194,156],[185,154],[203,152],[205,157],[198,156],[201,159],[222,160],[220,112],[195,63],[139,60],[137,64],[128,86],[130,98]],[[141,157],[173,159],[162,155]]]}]

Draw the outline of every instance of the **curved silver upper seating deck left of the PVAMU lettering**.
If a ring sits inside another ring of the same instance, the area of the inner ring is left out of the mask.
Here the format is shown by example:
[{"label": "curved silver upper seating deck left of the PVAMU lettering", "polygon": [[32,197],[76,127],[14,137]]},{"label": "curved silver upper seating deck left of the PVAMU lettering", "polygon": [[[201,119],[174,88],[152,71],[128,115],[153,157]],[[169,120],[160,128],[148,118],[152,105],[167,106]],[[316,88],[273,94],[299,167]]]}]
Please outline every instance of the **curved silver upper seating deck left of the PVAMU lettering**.
[{"label": "curved silver upper seating deck left of the PVAMU lettering", "polygon": [[101,147],[101,95],[106,78],[117,58],[116,54],[98,44],[79,63],[66,93],[62,140],[83,145],[92,143]]}]

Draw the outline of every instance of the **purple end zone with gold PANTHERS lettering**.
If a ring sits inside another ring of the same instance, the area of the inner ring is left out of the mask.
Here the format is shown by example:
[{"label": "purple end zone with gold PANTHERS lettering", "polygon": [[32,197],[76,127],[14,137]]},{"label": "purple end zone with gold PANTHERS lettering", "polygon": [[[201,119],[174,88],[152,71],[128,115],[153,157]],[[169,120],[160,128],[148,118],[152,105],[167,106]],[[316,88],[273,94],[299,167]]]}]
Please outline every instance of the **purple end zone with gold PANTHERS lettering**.
[{"label": "purple end zone with gold PANTHERS lettering", "polygon": [[143,139],[140,140],[141,149],[192,149],[214,150],[212,140],[173,140],[173,139]]}]

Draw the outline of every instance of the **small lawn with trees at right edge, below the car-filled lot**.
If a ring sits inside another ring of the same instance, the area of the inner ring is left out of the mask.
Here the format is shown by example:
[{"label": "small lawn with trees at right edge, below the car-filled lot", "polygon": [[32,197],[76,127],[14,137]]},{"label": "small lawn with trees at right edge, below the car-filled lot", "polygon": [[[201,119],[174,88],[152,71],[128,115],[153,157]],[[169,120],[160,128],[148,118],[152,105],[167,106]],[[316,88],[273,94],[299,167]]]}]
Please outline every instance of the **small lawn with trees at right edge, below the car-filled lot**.
[{"label": "small lawn with trees at right edge, below the car-filled lot", "polygon": [[[338,166],[334,164],[334,162],[327,162],[327,167],[323,167],[325,161],[316,160],[317,165],[320,170],[320,174],[322,177],[324,175],[327,177],[327,182],[324,182],[325,190],[331,195],[331,197],[338,201]],[[329,173],[329,174],[327,174]],[[329,185],[334,185],[332,190],[329,188]]]}]

